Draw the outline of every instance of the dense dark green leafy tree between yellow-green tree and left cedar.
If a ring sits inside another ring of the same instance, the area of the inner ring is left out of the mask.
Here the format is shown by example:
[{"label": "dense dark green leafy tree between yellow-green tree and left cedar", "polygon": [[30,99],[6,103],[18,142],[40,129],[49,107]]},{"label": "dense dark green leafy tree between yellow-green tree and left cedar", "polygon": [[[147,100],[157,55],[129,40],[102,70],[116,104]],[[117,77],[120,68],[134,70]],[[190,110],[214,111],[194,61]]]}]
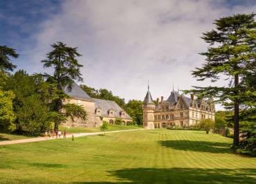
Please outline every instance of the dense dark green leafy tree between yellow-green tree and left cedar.
[{"label": "dense dark green leafy tree between yellow-green tree and left cedar", "polygon": [[3,89],[15,93],[13,100],[14,111],[17,119],[17,132],[26,131],[28,134],[40,134],[50,126],[49,111],[35,77],[29,76],[25,71],[17,71],[6,80]]}]

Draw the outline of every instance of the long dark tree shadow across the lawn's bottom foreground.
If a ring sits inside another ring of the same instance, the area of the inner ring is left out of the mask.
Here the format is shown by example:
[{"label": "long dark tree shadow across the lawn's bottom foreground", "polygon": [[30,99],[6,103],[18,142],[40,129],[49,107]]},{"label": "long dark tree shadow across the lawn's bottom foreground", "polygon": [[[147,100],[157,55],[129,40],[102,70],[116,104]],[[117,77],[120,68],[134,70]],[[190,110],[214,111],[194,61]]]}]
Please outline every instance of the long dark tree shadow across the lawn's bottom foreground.
[{"label": "long dark tree shadow across the lawn's bottom foreground", "polygon": [[255,183],[256,169],[135,168],[110,171],[109,176],[118,181],[94,183]]}]

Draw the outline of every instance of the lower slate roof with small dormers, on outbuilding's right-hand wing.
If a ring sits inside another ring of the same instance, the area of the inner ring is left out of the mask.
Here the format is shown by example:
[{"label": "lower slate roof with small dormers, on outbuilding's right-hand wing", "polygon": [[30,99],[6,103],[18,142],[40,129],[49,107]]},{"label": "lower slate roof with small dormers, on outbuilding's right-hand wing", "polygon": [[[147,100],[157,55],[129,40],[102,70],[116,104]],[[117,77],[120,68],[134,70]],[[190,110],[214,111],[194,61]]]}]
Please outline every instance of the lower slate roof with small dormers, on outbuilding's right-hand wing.
[{"label": "lower slate roof with small dormers, on outbuilding's right-hand wing", "polygon": [[[125,118],[125,119],[130,119],[132,118],[114,101],[111,100],[101,100],[97,98],[93,98],[95,102],[95,108],[101,109],[102,116],[109,116],[109,110],[113,110],[113,117],[115,118]],[[120,111],[125,113],[125,117],[120,117]]]}]

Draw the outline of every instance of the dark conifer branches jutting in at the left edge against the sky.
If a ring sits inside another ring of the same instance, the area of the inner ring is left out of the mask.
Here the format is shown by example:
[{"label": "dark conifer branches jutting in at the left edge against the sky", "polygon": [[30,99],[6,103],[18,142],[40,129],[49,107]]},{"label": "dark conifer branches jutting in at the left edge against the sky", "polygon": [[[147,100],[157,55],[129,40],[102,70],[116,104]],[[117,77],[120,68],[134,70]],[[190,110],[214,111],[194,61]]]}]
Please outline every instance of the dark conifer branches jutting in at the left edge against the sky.
[{"label": "dark conifer branches jutting in at the left edge against the sky", "polygon": [[16,68],[16,66],[12,64],[10,57],[17,58],[19,55],[13,48],[0,46],[0,71],[13,71],[13,69]]}]

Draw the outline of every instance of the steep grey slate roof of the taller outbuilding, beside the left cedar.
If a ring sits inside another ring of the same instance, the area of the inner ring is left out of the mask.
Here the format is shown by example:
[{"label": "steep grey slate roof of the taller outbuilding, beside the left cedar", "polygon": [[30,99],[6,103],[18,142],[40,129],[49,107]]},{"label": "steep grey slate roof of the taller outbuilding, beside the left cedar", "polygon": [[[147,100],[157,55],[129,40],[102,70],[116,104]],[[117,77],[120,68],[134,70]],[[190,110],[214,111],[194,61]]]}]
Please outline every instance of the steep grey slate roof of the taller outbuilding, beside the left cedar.
[{"label": "steep grey slate roof of the taller outbuilding, beside the left cedar", "polygon": [[73,98],[93,101],[93,99],[84,90],[82,90],[80,86],[78,86],[75,82],[73,83],[71,91],[69,91],[67,88],[64,91],[67,95]]}]

